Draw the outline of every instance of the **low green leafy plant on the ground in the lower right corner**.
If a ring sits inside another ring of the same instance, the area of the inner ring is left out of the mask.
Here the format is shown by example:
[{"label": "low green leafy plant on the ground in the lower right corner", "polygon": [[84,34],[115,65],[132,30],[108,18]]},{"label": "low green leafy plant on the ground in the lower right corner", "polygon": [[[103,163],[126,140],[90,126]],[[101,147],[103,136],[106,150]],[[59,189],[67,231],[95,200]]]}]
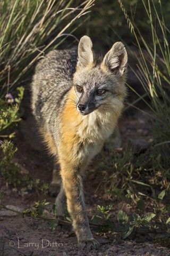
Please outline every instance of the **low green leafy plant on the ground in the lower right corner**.
[{"label": "low green leafy plant on the ground in the lower right corner", "polygon": [[[123,194],[123,190],[114,189],[111,191],[113,195],[116,195],[122,199],[125,203],[131,206],[133,213],[129,215],[122,210],[117,214],[117,220],[120,223],[122,238],[128,237],[133,230],[137,231],[142,228],[142,231],[150,231],[150,233],[160,233],[167,234],[169,233],[169,228],[167,224],[170,221],[168,218],[168,205],[163,206],[162,200],[165,196],[165,190],[161,191],[155,198],[148,198],[147,201],[144,194],[138,192],[138,194],[133,195],[128,191],[127,195]],[[144,197],[145,198],[141,198]],[[148,201],[151,201],[152,212],[146,213],[146,203],[148,207]]]}]

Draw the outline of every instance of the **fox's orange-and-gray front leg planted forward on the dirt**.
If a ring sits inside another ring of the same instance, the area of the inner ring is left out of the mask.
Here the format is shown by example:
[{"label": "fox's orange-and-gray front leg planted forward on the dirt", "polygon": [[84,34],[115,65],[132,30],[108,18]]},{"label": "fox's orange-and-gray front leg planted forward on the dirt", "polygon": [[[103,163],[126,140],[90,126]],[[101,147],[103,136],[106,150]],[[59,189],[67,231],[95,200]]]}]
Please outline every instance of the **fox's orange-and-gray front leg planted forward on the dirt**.
[{"label": "fox's orange-and-gray front leg planted forward on the dirt", "polygon": [[61,176],[65,195],[67,199],[67,210],[73,220],[73,228],[78,238],[79,246],[82,249],[95,249],[99,246],[96,239],[93,238],[89,221],[86,215],[84,205],[84,196],[82,189],[82,179],[79,170],[70,164],[61,165]]}]

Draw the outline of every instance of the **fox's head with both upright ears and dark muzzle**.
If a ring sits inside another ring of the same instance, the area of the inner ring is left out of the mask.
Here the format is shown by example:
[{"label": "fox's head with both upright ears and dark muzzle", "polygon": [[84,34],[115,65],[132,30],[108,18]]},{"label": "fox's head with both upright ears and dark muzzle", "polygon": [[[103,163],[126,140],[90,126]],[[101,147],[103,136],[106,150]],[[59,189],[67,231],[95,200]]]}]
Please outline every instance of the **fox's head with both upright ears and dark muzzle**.
[{"label": "fox's head with both upright ears and dark muzzle", "polygon": [[126,95],[125,76],[128,55],[122,42],[116,42],[103,59],[96,58],[90,37],[78,46],[78,63],[73,82],[77,110],[88,115],[94,110],[122,108]]}]

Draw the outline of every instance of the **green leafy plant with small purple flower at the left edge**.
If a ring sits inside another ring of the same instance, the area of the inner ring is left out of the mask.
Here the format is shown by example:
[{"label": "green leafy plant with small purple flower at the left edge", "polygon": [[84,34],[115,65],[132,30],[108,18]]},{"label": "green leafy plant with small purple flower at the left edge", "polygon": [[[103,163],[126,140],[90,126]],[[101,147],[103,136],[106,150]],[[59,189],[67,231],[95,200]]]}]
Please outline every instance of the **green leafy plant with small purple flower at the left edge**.
[{"label": "green leafy plant with small purple flower at the left edge", "polygon": [[[6,99],[0,99],[0,138],[12,138],[15,132],[10,133],[9,129],[17,125],[21,121],[19,108],[23,99],[24,89],[18,87],[18,97],[13,98],[11,93],[6,94]],[[7,134],[10,133],[10,134]],[[6,182],[14,187],[21,184],[20,172],[18,166],[13,162],[17,148],[12,141],[4,139],[0,141],[0,149],[2,150],[2,159],[0,162],[1,174]]]}]

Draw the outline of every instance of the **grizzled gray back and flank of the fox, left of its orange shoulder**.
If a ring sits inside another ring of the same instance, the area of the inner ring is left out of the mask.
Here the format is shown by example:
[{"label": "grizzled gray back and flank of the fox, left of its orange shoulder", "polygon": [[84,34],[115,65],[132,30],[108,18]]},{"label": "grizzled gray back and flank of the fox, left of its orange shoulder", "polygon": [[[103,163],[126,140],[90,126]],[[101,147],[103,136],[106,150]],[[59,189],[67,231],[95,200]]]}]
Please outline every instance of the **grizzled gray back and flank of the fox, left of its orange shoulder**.
[{"label": "grizzled gray back and flank of the fox, left of its orange shoulder", "polygon": [[54,50],[41,59],[32,79],[32,111],[50,153],[56,154],[61,113],[71,89],[77,51]]}]

